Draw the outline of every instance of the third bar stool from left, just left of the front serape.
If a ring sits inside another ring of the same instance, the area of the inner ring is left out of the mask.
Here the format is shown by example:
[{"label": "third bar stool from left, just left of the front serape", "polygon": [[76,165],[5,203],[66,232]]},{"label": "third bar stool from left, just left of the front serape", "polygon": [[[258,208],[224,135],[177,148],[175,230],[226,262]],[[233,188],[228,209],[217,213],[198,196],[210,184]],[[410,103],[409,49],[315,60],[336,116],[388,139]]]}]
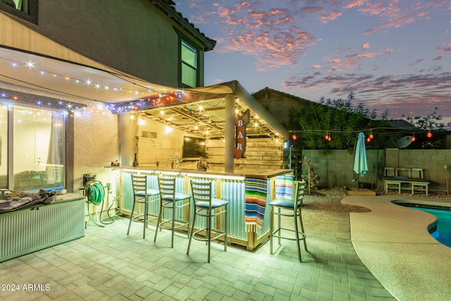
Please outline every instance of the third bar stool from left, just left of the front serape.
[{"label": "third bar stool from left, just left of the front serape", "polygon": [[[227,205],[228,201],[223,199],[216,199],[211,197],[211,182],[200,183],[191,180],[191,192],[192,199],[194,201],[194,216],[192,218],[191,235],[188,242],[188,250],[186,254],[190,254],[191,239],[204,241],[208,245],[208,262],[210,262],[210,245],[211,240],[217,240],[218,238],[224,237],[224,252],[227,251]],[[216,209],[221,209],[221,211],[216,211]],[[211,219],[216,216],[224,214],[224,230],[217,228],[212,228]],[[201,216],[206,218],[206,223],[203,228],[199,228],[194,231],[194,223],[196,221],[196,216]],[[202,234],[202,232],[204,234]],[[214,233],[214,237],[211,237],[211,233]]]}]

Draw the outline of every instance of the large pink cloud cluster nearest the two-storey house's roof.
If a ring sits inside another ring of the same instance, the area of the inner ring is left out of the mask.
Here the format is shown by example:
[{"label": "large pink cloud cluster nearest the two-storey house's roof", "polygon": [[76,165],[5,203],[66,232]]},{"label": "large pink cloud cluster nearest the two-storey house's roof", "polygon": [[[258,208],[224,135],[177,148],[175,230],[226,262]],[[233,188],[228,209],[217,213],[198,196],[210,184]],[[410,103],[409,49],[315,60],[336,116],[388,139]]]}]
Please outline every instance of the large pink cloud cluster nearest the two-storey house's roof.
[{"label": "large pink cloud cluster nearest the two-storey house's roof", "polygon": [[220,6],[221,22],[230,28],[219,51],[240,51],[257,59],[257,69],[295,66],[316,38],[297,26],[287,8],[263,8],[254,3]]}]

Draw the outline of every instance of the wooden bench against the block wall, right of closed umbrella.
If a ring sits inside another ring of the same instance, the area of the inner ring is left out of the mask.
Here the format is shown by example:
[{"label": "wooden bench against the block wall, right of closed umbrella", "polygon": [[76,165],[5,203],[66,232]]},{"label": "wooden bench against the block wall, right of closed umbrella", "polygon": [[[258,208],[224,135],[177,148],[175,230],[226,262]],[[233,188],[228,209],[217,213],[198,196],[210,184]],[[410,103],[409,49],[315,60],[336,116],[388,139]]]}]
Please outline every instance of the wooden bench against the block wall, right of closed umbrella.
[{"label": "wooden bench against the block wall, right of closed umbrella", "polygon": [[414,192],[424,192],[428,196],[429,182],[424,179],[423,168],[384,168],[384,189],[388,193],[389,189],[409,190],[412,195]]}]

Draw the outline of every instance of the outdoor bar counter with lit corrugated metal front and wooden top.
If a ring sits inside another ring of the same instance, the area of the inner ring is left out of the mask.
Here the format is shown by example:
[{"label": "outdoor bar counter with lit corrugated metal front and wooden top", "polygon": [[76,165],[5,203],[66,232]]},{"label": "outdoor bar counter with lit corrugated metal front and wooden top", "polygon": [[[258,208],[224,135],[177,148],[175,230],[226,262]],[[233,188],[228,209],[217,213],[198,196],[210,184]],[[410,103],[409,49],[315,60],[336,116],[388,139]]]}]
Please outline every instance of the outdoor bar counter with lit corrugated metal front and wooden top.
[{"label": "outdoor bar counter with lit corrugated metal front and wooden top", "polygon": [[[111,168],[112,171],[120,173],[121,198],[119,209],[122,214],[128,216],[131,214],[133,203],[131,182],[133,173],[147,175],[149,188],[154,189],[158,189],[159,176],[175,177],[177,191],[184,193],[190,193],[190,179],[214,183],[214,196],[229,202],[228,242],[244,246],[247,250],[253,250],[267,240],[270,218],[268,203],[276,197],[276,190],[278,197],[290,195],[293,174],[291,169],[259,171],[246,168],[236,170],[235,173],[224,173],[221,171],[168,169],[155,166],[105,166],[105,168]],[[139,208],[140,212],[143,208],[144,206]],[[156,202],[149,206],[149,214],[158,214]],[[176,212],[176,216],[177,219],[186,221],[189,216],[192,216],[192,212],[189,213],[187,209],[180,209]],[[200,226],[197,224],[200,222],[196,221],[195,227]],[[216,223],[218,225],[223,224],[221,220],[216,220]]]}]

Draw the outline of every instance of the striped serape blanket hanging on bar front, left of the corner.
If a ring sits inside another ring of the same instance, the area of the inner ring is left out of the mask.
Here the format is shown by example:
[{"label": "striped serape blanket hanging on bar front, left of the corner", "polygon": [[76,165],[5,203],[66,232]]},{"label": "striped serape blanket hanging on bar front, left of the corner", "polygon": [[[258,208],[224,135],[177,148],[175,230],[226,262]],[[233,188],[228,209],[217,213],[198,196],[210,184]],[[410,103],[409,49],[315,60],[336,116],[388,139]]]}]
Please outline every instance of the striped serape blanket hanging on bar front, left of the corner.
[{"label": "striped serape blanket hanging on bar front, left of the corner", "polygon": [[245,179],[245,224],[248,232],[255,232],[256,227],[263,226],[267,192],[266,179]]}]

